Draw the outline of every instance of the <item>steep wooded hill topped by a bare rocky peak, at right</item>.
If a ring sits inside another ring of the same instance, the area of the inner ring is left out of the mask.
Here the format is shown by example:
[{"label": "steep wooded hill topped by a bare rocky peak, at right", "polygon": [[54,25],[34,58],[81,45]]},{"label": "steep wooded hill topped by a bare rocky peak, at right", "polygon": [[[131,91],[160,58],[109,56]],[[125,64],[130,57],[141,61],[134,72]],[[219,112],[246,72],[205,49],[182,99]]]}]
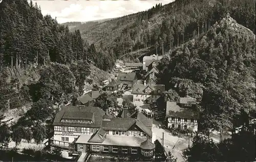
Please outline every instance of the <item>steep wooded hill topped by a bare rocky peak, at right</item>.
[{"label": "steep wooded hill topped by a bare rocky peak, at right", "polygon": [[202,100],[201,128],[231,130],[255,118],[255,35],[231,17],[169,51],[159,68],[167,89]]}]

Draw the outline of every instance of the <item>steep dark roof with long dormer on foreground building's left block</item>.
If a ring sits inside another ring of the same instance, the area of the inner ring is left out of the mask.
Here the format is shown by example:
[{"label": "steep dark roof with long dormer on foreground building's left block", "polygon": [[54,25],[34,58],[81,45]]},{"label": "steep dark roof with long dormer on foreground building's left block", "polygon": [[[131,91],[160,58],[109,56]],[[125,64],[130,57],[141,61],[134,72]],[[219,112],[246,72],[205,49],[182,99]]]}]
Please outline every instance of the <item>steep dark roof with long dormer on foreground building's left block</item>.
[{"label": "steep dark roof with long dormer on foreground building's left block", "polygon": [[[62,123],[61,119],[63,118],[63,115],[69,112],[68,114],[70,117],[73,117],[74,115],[80,113],[88,113],[88,114],[94,114],[94,123],[93,124],[82,124],[82,123]],[[57,126],[86,126],[86,127],[101,127],[102,117],[105,114],[105,112],[100,109],[99,107],[89,107],[89,106],[64,106],[61,108],[61,111],[59,111],[53,121],[53,125]]]}]

